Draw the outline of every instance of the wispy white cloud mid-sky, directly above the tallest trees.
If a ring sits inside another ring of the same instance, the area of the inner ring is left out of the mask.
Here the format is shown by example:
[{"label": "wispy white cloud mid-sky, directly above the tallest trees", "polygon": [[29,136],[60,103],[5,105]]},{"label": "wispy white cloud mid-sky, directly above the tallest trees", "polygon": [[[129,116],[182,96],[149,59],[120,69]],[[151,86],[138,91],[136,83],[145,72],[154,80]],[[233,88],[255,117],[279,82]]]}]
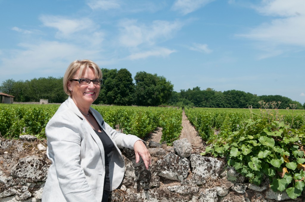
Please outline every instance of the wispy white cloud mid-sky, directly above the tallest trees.
[{"label": "wispy white cloud mid-sky, directly above the tallest trees", "polygon": [[138,23],[136,20],[122,20],[119,23],[121,34],[119,41],[126,47],[137,47],[140,44],[153,45],[157,40],[163,41],[172,37],[182,23],[155,20],[151,25]]}]

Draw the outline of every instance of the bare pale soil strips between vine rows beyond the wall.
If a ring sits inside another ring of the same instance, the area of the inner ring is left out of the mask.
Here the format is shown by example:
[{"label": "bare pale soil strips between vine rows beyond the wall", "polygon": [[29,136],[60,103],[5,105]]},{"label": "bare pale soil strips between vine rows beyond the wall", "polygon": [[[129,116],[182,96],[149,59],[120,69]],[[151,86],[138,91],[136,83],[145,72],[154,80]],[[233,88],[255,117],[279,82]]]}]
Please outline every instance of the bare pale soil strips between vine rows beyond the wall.
[{"label": "bare pale soil strips between vine rows beyond the wall", "polygon": [[[187,138],[192,146],[201,146],[203,144],[202,139],[198,136],[197,131],[189,122],[188,118],[185,116],[184,111],[182,112],[182,131],[180,134],[180,139]],[[162,128],[158,127],[156,131],[152,132],[145,140],[147,142],[154,141],[160,142],[162,137]]]}]

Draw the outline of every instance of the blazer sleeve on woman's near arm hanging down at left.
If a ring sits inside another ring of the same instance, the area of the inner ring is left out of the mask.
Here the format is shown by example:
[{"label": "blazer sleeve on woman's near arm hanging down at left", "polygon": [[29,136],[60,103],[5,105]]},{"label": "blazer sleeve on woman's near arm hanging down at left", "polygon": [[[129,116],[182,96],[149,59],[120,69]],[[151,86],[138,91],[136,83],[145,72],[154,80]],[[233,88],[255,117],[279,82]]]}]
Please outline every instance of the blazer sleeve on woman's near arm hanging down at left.
[{"label": "blazer sleeve on woman's near arm hanging down at left", "polygon": [[53,119],[46,129],[49,155],[54,161],[60,189],[66,200],[96,201],[81,168],[81,135],[71,119]]}]

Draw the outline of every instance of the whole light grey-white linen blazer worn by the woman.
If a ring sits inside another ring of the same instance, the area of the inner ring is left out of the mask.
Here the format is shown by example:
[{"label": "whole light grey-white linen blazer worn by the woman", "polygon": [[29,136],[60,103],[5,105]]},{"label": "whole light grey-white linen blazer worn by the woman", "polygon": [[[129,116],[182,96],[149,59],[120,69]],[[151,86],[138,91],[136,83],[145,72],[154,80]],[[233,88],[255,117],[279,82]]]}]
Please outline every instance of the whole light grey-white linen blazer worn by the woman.
[{"label": "whole light grey-white linen blazer worn by the woman", "polygon": [[[89,111],[114,143],[109,162],[110,187],[114,190],[122,182],[125,172],[119,148],[134,149],[135,142],[141,139],[119,133],[104,122],[99,112],[91,107]],[[103,144],[70,96],[49,120],[45,133],[47,156],[52,164],[42,202],[102,201],[105,179]]]}]

